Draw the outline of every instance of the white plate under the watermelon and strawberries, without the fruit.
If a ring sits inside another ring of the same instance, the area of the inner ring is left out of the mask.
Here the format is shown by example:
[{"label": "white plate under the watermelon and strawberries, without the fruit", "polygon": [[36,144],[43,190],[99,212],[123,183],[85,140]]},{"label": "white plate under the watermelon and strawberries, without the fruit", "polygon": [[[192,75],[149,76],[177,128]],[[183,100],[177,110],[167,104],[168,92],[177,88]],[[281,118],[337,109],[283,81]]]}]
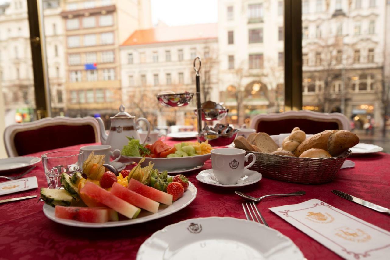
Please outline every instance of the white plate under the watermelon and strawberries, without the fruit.
[{"label": "white plate under the watermelon and strawberries, without the fruit", "polygon": [[60,219],[58,217],[55,217],[54,207],[51,207],[46,203],[43,205],[43,213],[46,215],[46,217],[48,217],[52,221],[67,226],[78,226],[82,228],[108,228],[114,226],[128,226],[128,225],[151,221],[153,219],[159,219],[161,217],[165,217],[167,215],[173,214],[181,210],[182,208],[185,208],[188,205],[190,205],[190,203],[195,199],[197,192],[198,190],[195,187],[195,185],[189,182],[188,189],[184,192],[183,196],[177,201],[174,201],[172,205],[167,206],[164,204],[160,204],[157,213],[151,213],[151,212],[147,212],[146,210],[141,210],[140,214],[136,219],[109,221],[106,223],[88,223],[88,222],[81,222],[81,221],[75,221],[69,219]]}]

